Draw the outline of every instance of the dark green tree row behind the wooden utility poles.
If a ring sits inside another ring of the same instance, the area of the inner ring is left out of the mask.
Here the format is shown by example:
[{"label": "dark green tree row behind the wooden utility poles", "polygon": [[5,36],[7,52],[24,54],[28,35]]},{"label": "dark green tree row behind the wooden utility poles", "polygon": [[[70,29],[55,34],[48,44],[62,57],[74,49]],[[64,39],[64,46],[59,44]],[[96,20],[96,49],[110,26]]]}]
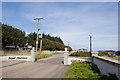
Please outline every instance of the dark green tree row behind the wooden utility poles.
[{"label": "dark green tree row behind the wooden utility poles", "polygon": [[[29,45],[35,46],[36,45],[36,36],[37,34],[30,33],[27,36],[27,42]],[[60,37],[54,37],[49,34],[43,33],[43,43],[42,43],[42,49],[43,50],[64,50],[64,43],[60,39]],[[38,48],[40,47],[40,39],[38,40]]]}]

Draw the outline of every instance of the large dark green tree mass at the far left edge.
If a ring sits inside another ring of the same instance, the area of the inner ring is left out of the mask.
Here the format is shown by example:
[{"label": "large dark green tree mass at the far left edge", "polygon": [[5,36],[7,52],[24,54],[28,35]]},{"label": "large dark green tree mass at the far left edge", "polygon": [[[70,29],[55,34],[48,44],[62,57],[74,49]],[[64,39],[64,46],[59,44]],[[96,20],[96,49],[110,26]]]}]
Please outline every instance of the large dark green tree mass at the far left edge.
[{"label": "large dark green tree mass at the far left edge", "polygon": [[12,26],[2,25],[2,46],[24,46],[26,43],[25,32]]}]

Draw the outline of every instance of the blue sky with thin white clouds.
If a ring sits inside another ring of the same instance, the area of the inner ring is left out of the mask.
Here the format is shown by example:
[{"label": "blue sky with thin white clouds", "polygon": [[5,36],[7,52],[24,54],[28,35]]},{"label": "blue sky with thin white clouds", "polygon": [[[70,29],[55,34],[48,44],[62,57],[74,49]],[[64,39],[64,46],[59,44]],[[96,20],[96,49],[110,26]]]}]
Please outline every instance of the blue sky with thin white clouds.
[{"label": "blue sky with thin white clouds", "polygon": [[35,17],[40,21],[40,33],[60,36],[77,50],[118,49],[117,2],[3,2],[2,22],[25,31],[37,31]]}]

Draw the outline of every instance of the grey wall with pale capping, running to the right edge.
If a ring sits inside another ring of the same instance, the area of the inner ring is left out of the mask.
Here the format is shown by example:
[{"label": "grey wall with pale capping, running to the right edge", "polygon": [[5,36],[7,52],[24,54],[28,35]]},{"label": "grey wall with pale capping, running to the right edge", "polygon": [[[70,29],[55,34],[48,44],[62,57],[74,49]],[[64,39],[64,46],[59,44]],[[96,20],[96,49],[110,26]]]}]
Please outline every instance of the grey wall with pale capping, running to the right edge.
[{"label": "grey wall with pale capping, running to the right edge", "polygon": [[120,62],[117,60],[107,59],[105,57],[93,56],[93,63],[95,63],[101,71],[101,74],[108,75],[108,73],[116,74],[120,79]]}]

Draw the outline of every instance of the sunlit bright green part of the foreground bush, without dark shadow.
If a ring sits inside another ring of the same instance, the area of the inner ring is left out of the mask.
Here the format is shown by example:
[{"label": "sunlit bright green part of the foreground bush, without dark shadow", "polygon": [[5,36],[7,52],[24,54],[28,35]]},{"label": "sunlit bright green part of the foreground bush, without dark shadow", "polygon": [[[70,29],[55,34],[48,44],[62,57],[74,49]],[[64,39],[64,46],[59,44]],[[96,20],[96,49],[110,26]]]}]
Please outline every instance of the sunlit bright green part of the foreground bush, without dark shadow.
[{"label": "sunlit bright green part of the foreground bush, without dark shadow", "polygon": [[100,78],[98,73],[94,73],[91,69],[93,69],[91,66],[92,63],[87,62],[73,62],[72,65],[70,65],[70,69],[68,71],[68,75],[64,78],[76,78],[76,79],[98,79]]}]

